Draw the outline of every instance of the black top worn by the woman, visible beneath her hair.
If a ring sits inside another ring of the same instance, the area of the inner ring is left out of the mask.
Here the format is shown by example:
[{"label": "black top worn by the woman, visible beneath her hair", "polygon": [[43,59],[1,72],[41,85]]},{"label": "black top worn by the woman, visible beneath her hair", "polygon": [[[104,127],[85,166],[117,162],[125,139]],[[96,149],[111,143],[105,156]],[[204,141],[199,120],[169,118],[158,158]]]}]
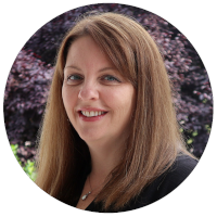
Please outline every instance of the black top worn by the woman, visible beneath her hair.
[{"label": "black top worn by the woman, visible beneath her hair", "polygon": [[[196,166],[197,161],[191,158],[190,156],[182,155],[178,156],[173,166],[164,173],[162,176],[156,178],[149,187],[146,187],[140,195],[131,200],[124,208],[118,212],[126,212],[136,208],[146,206],[159,199],[164,197],[176,189],[193,170]],[[86,210],[91,212],[102,212],[101,205],[94,203],[94,201],[86,208]],[[108,209],[104,213],[116,213]]]}]

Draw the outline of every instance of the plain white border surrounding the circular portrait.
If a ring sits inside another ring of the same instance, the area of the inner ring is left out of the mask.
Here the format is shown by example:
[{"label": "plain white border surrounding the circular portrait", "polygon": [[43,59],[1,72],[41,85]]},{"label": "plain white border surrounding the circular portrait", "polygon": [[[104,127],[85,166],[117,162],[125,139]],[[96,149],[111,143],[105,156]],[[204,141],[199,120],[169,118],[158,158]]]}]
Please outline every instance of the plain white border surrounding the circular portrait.
[{"label": "plain white border surrounding the circular portrait", "polygon": [[[2,1],[3,2],[3,1]],[[1,151],[0,151],[0,215],[1,216],[73,216],[88,213],[67,206],[41,191],[17,164],[13,156],[5,133],[3,120],[3,92],[10,68],[22,47],[29,37],[53,17],[78,7],[106,1],[73,0],[11,0],[0,3],[1,13]],[[116,3],[130,4],[153,12],[177,27],[199,52],[212,82],[214,97],[216,93],[216,5],[206,0],[119,0]],[[214,99],[215,100],[215,99]],[[108,214],[118,216],[215,216],[217,176],[216,176],[216,124],[213,123],[212,135],[200,164],[190,177],[163,200],[140,209],[127,213]]]}]

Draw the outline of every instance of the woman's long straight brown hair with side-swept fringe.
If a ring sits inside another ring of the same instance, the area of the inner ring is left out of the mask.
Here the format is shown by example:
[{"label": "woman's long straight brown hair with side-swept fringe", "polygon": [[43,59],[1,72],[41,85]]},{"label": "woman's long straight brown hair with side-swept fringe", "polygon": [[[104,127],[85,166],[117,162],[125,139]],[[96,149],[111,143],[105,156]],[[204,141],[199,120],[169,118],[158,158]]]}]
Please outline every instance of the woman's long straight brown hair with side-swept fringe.
[{"label": "woman's long straight brown hair with side-swept fringe", "polygon": [[103,49],[137,92],[125,155],[95,199],[104,209],[110,206],[118,209],[167,170],[178,154],[188,152],[176,119],[171,85],[154,40],[126,15],[86,15],[67,33],[60,47],[40,130],[36,183],[50,195],[76,204],[80,196],[77,187],[81,182],[81,171],[90,169],[88,146],[67,120],[62,100],[68,48],[86,35]]}]

